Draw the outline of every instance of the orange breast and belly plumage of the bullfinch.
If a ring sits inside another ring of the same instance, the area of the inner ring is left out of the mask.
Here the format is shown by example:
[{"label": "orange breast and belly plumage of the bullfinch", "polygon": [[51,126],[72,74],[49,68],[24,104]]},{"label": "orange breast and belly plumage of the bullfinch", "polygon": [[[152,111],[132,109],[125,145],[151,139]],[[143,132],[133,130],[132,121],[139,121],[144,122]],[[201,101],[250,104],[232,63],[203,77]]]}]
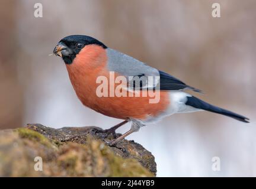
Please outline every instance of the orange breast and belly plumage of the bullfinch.
[{"label": "orange breast and belly plumage of the bullfinch", "polygon": [[[75,89],[76,95],[81,102],[104,115],[119,119],[141,119],[145,120],[148,116],[157,116],[164,112],[169,106],[169,95],[167,91],[160,91],[159,102],[149,103],[152,99],[149,95],[139,97],[98,97],[96,94],[96,83],[99,76],[109,79],[110,71],[107,69],[107,54],[104,48],[99,45],[86,45],[79,54],[76,55],[72,64],[66,64],[69,78]],[[118,74],[115,74],[117,77]],[[108,90],[111,83],[108,84]],[[117,84],[114,84],[115,87]],[[137,91],[142,93],[142,91]],[[131,93],[131,92],[128,92]]]}]

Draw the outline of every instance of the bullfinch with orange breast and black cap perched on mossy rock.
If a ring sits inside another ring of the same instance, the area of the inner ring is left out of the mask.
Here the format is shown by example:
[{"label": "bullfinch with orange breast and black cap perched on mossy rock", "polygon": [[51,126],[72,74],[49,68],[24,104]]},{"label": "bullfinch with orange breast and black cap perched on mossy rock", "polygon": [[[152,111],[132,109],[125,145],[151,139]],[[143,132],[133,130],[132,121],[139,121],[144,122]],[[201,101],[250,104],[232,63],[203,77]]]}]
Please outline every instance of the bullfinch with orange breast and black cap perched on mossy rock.
[{"label": "bullfinch with orange breast and black cap perched on mossy rock", "polygon": [[[127,122],[132,123],[130,130],[111,144],[116,144],[130,133],[139,131],[140,127],[149,122],[156,122],[174,113],[207,110],[241,122],[249,122],[249,119],[242,115],[210,105],[184,92],[201,92],[199,89],[188,86],[142,61],[108,48],[95,38],[69,35],[57,43],[53,53],[62,57],[65,62],[73,89],[83,105],[103,115],[123,119],[123,122],[103,132],[114,134],[120,126]],[[108,82],[104,82],[104,79]],[[136,83],[136,80],[139,80],[139,83]],[[146,93],[143,95],[143,92]],[[154,93],[157,93],[158,99],[151,102]]]}]

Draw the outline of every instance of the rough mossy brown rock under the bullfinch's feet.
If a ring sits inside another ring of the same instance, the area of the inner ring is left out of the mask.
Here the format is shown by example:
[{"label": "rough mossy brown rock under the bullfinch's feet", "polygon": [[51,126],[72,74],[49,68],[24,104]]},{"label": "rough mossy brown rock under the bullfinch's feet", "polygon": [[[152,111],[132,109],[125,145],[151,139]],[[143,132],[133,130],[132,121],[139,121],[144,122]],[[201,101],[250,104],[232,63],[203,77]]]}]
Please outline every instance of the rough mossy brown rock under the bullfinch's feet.
[{"label": "rough mossy brown rock under the bullfinch's feet", "polygon": [[[53,129],[40,124],[0,131],[1,177],[153,177],[156,164],[143,146],[123,140],[106,142],[101,128]],[[35,157],[43,171],[34,170]]]}]

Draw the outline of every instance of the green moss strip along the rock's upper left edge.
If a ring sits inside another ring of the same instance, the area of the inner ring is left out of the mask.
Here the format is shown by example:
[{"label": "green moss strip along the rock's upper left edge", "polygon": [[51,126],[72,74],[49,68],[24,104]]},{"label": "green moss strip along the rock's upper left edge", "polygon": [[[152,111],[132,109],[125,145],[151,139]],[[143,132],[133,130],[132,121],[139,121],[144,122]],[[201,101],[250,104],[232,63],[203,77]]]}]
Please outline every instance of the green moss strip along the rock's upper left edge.
[{"label": "green moss strip along the rock's upper left edge", "polygon": [[31,141],[39,142],[47,147],[53,147],[53,144],[49,141],[49,139],[41,135],[39,132],[32,131],[31,129],[27,128],[18,128],[16,131],[21,138],[27,138]]}]

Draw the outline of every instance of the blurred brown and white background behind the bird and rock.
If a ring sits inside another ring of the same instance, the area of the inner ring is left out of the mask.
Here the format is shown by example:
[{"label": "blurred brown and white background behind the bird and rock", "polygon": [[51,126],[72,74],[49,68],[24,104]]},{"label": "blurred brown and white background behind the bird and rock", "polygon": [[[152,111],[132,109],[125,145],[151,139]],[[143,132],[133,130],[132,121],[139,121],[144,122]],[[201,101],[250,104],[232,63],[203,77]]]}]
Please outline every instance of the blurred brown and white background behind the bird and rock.
[{"label": "blurred brown and white background behind the bird and rock", "polygon": [[[34,4],[43,17],[34,17]],[[212,17],[218,2],[221,17]],[[241,113],[245,124],[197,112],[169,116],[134,139],[152,152],[158,177],[256,176],[256,1],[0,1],[0,128],[26,123],[100,126],[120,120],[84,107],[66,67],[48,56],[84,34],[204,91],[201,99]],[[125,125],[118,131],[129,129]],[[220,171],[212,158],[220,158]]]}]

